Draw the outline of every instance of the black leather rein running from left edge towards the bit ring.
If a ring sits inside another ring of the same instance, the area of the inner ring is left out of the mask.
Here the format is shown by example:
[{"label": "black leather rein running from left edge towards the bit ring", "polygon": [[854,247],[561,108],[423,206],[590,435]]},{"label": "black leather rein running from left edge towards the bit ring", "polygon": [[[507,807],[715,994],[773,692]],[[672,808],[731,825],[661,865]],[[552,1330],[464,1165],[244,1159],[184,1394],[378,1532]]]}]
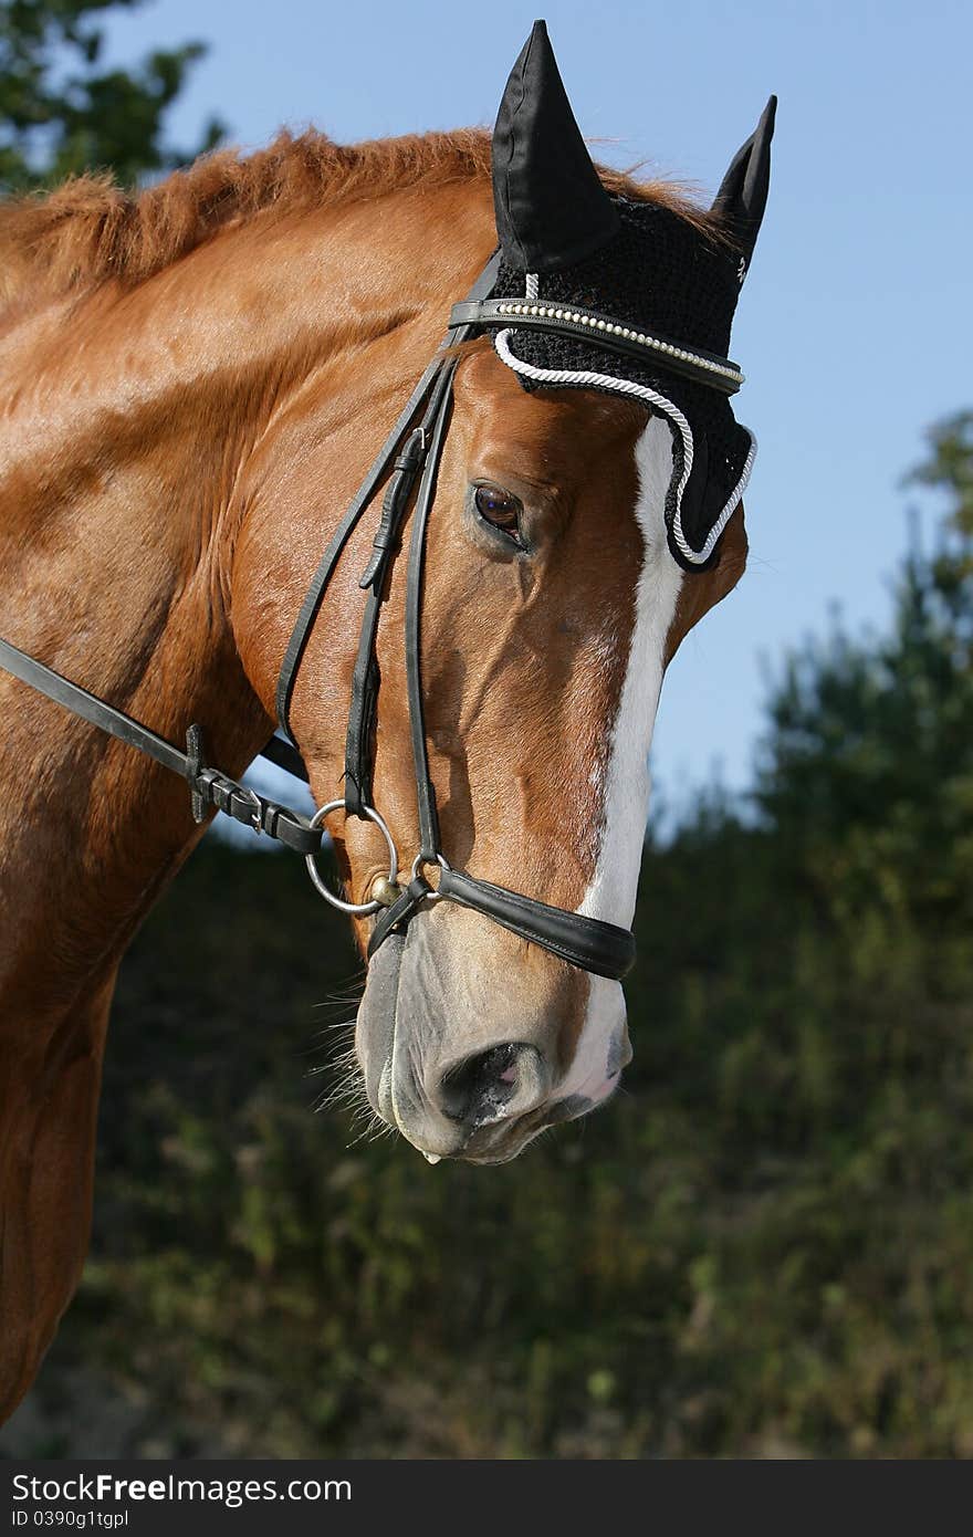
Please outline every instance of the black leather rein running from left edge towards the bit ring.
[{"label": "black leather rein running from left edge towards the bit ring", "polygon": [[186,779],[192,796],[192,815],[197,821],[203,821],[209,807],[215,807],[237,822],[246,822],[255,832],[267,833],[269,838],[277,838],[291,848],[297,848],[298,853],[314,855],[320,851],[321,833],[309,825],[306,816],[287,805],[278,805],[277,801],[267,801],[255,790],[204,762],[198,725],[189,727],[188,750],[183,753],[164,736],[158,736],[148,725],[134,721],[125,710],[115,710],[114,705],[105,704],[88,689],[71,682],[69,678],[3,639],[0,639],[0,667],[52,699],[54,704],[60,704],[63,710],[97,725],[98,730],[108,732],[109,736],[126,742],[128,747],[148,753],[155,762]]}]

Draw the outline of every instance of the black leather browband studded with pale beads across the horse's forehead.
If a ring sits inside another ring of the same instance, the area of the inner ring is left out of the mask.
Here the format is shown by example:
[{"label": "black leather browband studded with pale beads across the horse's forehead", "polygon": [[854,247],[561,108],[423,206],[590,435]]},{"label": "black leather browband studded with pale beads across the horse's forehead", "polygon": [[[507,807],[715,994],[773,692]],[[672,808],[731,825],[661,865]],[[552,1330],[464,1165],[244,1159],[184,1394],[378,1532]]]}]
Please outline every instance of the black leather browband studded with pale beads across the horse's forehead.
[{"label": "black leather browband studded with pale beads across the horse's forehead", "polygon": [[[520,314],[510,314],[513,304],[520,307]],[[609,315],[599,315],[593,309],[584,310],[596,323],[601,321],[603,329],[599,329],[598,324],[586,326],[581,321],[570,320],[567,312],[558,318],[555,314],[556,307],[560,306],[535,303],[533,300],[466,300],[463,304],[453,304],[449,323],[450,326],[466,326],[481,330],[506,330],[507,327],[513,327],[515,330],[561,332],[593,343],[598,347],[607,347],[610,352],[623,352],[626,357],[638,358],[639,363],[646,363],[647,357],[652,357],[659,367],[667,369],[670,373],[681,373],[687,380],[695,380],[696,384],[709,384],[710,389],[719,390],[721,395],[735,395],[742,383],[739,366],[729,358],[718,357],[715,352],[704,352],[702,347],[682,347],[681,343],[672,341],[669,337],[652,337],[646,338],[646,341],[635,341],[630,337],[619,335],[618,321]],[[536,314],[536,310],[541,314]],[[679,357],[679,354],[687,352],[702,361],[693,363],[689,357]],[[707,363],[713,364],[713,367],[707,369]],[[724,369],[730,372],[722,372]]]}]

